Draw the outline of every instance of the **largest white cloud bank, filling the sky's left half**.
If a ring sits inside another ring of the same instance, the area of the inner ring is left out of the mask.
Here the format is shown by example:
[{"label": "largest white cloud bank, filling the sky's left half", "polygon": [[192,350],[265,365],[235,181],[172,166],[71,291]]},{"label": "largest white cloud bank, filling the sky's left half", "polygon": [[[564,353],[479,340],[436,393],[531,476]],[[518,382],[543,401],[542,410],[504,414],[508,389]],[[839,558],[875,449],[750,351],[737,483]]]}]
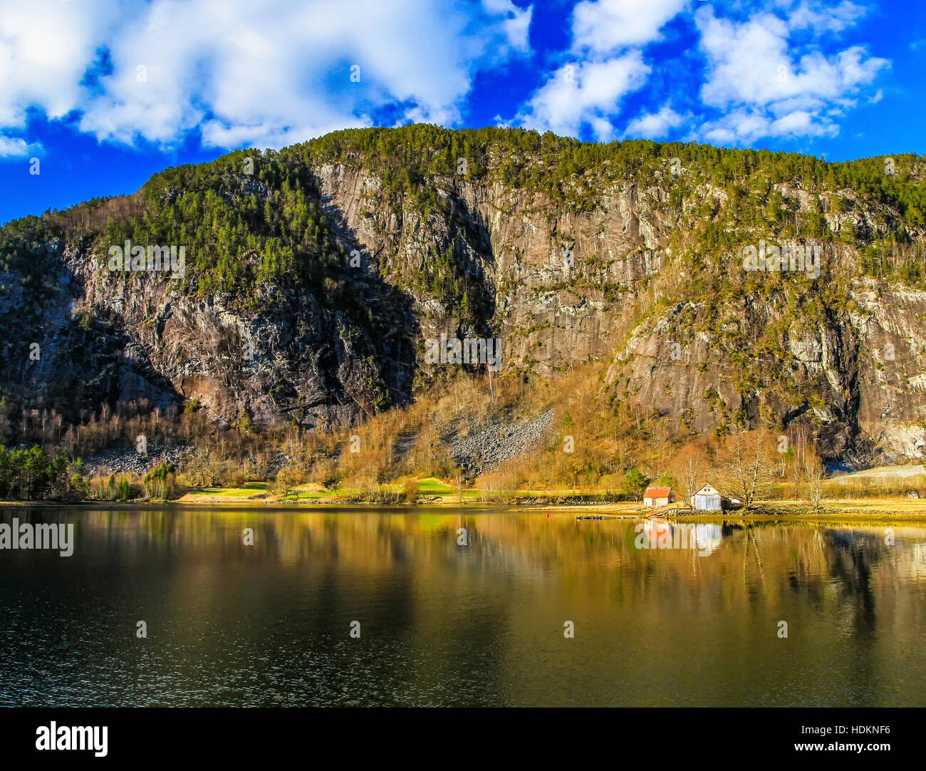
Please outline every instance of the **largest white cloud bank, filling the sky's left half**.
[{"label": "largest white cloud bank, filling the sky's left half", "polygon": [[[0,126],[78,110],[100,140],[201,129],[232,147],[368,125],[381,107],[452,124],[475,71],[529,50],[531,18],[511,0],[5,0]],[[111,71],[85,78],[103,49]]]}]

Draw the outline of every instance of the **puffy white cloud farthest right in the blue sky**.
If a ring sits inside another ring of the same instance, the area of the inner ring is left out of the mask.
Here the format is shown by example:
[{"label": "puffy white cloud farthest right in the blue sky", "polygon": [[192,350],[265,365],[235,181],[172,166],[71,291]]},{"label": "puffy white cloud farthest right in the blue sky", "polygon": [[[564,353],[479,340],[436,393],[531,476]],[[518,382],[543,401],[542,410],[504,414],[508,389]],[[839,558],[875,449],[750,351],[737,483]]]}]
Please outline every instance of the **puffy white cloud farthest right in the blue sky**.
[{"label": "puffy white cloud farthest right in the blue sky", "polygon": [[[832,9],[831,17],[848,23],[846,19],[855,18],[855,7],[844,3]],[[703,126],[708,140],[833,135],[838,132],[834,119],[853,107],[861,88],[890,66],[886,59],[868,56],[861,46],[829,56],[807,45],[796,48],[791,40],[796,26],[812,25],[814,19],[823,23],[808,16],[816,12],[807,6],[801,9],[804,16],[790,22],[767,12],[744,22],[718,19],[712,8],[696,12],[701,48],[707,55],[701,99],[728,113]]]}]

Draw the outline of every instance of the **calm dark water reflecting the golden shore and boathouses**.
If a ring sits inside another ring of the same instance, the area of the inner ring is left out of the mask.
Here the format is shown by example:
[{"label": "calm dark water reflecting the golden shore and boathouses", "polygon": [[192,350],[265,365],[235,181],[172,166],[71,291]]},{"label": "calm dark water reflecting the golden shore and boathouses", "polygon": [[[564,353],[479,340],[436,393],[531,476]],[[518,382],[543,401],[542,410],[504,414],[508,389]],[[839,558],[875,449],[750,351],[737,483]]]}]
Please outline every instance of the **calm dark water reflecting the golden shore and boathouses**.
[{"label": "calm dark water reflecting the golden shore and boathouses", "polygon": [[699,555],[569,512],[14,515],[76,542],[0,551],[4,705],[926,704],[918,525],[718,521]]}]

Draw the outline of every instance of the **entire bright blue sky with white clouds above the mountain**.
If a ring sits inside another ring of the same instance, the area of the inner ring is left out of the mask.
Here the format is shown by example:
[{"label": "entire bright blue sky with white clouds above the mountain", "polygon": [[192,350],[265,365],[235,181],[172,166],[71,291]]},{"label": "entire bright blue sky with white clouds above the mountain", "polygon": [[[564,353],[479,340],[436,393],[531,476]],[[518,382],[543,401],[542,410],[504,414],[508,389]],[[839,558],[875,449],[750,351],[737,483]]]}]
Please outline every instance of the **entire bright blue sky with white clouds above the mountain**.
[{"label": "entire bright blue sky with white clouds above the mountain", "polygon": [[922,155],[924,8],[2,0],[0,222],[131,193],[236,148],[413,121]]}]

